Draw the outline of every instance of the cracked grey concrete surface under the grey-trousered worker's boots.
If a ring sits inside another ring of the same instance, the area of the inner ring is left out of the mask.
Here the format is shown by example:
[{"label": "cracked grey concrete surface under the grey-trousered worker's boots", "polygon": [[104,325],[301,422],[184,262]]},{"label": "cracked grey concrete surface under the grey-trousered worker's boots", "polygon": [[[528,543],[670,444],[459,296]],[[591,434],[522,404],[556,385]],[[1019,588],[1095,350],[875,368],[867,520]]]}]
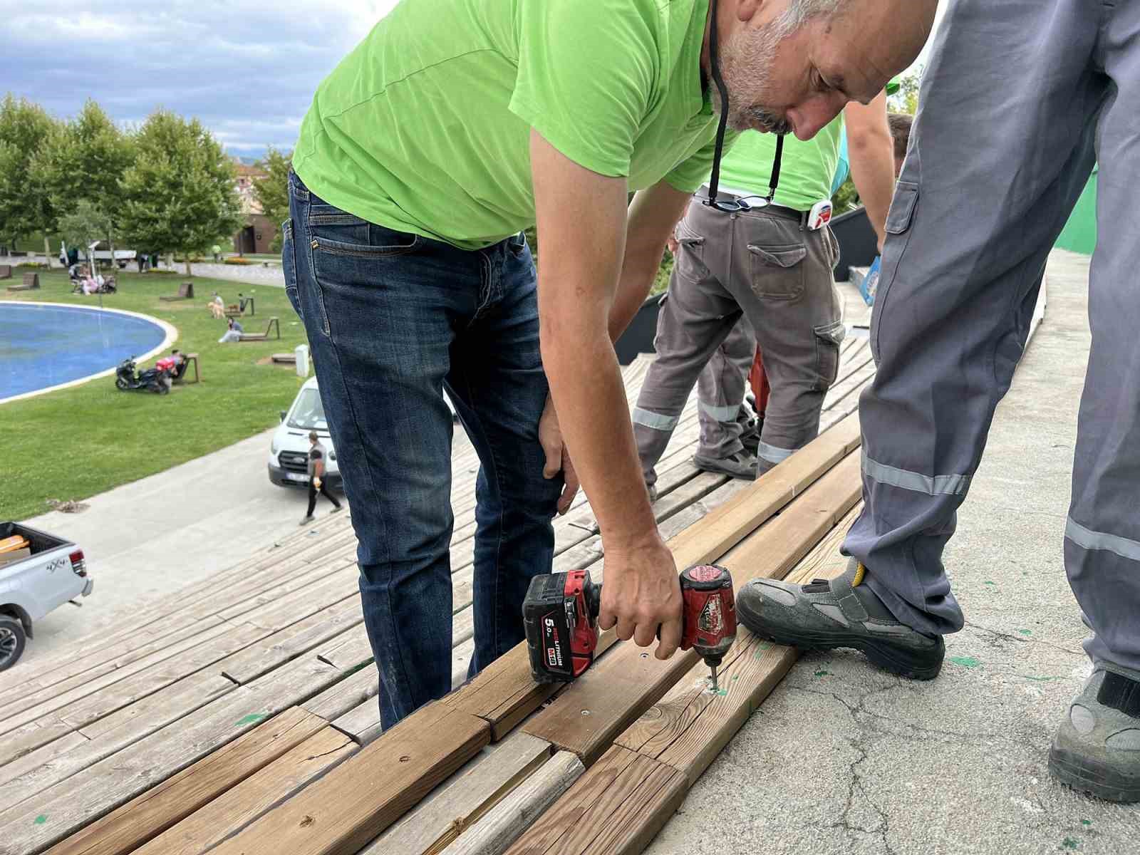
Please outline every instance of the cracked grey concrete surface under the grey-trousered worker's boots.
[{"label": "cracked grey concrete surface under the grey-trousered worker's boots", "polygon": [[1140,853],[1140,806],[1056,783],[1047,754],[1090,670],[1065,579],[1089,260],[1057,252],[1049,309],[997,410],[946,551],[967,627],[933,683],[854,651],[804,657],[697,782],[650,855]]}]

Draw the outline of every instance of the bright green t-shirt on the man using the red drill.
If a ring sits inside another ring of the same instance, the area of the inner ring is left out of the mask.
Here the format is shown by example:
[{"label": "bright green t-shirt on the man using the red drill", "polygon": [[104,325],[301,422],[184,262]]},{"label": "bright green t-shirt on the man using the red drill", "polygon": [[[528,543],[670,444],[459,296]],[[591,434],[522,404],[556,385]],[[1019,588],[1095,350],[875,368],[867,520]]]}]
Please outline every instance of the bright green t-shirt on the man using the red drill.
[{"label": "bright green t-shirt on the man using the red drill", "polygon": [[707,0],[402,0],[317,89],[293,168],[370,222],[473,250],[535,222],[530,128],[637,190],[712,162]]}]

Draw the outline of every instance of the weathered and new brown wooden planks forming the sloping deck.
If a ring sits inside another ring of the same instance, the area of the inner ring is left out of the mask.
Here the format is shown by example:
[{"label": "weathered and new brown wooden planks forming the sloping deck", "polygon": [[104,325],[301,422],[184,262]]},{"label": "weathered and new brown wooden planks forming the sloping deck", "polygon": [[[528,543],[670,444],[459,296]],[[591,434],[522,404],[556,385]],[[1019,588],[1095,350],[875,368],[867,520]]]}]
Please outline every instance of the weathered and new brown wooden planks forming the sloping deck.
[{"label": "weathered and new brown wooden planks forming the sloping deck", "polygon": [[[845,416],[872,372],[865,341],[846,344],[830,430],[755,484],[692,466],[686,409],[654,505],[678,565],[720,560],[738,584],[837,571],[860,489]],[[475,465],[457,450],[457,683]],[[581,497],[555,529],[556,569],[600,576]],[[0,854],[636,852],[793,660],[742,632],[711,695],[691,652],[660,662],[605,634],[560,689],[516,649],[380,736],[355,547],[333,518],[0,686]]]}]

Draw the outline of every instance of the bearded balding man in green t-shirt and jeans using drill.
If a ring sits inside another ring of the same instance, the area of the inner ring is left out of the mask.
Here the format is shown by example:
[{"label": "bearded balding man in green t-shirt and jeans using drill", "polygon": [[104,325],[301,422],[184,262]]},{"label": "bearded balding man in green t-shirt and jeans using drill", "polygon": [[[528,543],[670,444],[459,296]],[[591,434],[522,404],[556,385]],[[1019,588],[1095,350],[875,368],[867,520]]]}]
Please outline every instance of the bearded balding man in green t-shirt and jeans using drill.
[{"label": "bearded balding man in green t-shirt and jeans using drill", "polygon": [[[521,641],[579,477],[606,549],[601,626],[641,645],[660,629],[671,656],[677,573],[612,341],[724,122],[812,137],[914,58],[935,6],[405,0],[320,84],[283,262],[352,504],[385,727],[451,685],[445,389],[481,463],[471,670]],[[536,221],[540,286],[521,236]]]}]

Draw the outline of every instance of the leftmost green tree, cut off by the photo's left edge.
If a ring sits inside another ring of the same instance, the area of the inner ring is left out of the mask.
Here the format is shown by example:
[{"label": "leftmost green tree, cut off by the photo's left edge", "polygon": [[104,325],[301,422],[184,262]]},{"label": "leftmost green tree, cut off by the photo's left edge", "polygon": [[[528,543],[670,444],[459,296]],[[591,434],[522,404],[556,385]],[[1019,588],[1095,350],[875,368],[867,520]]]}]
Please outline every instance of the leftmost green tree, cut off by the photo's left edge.
[{"label": "leftmost green tree, cut off by the photo's left edge", "polygon": [[55,209],[47,188],[31,174],[31,164],[44,142],[58,133],[58,122],[38,104],[11,95],[0,101],[0,237],[16,241],[55,228]]}]

